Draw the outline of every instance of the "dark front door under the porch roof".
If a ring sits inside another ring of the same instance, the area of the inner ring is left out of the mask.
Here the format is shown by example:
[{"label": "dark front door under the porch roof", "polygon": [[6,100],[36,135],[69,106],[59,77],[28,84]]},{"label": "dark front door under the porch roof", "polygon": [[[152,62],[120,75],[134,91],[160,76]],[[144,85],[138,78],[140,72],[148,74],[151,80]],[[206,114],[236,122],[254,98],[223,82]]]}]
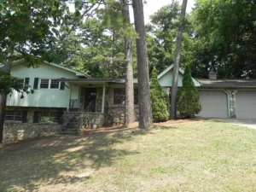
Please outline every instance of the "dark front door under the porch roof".
[{"label": "dark front door under the porch roof", "polygon": [[96,88],[85,88],[84,110],[96,111]]}]

